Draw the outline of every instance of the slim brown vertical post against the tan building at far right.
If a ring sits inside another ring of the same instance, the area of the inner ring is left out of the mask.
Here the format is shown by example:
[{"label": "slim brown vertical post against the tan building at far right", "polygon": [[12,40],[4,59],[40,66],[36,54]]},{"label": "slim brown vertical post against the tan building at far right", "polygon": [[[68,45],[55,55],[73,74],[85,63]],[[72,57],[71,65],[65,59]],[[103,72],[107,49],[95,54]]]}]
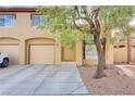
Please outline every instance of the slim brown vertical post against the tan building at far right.
[{"label": "slim brown vertical post against the tan building at far right", "polygon": [[132,62],[131,37],[127,35],[127,63]]}]

